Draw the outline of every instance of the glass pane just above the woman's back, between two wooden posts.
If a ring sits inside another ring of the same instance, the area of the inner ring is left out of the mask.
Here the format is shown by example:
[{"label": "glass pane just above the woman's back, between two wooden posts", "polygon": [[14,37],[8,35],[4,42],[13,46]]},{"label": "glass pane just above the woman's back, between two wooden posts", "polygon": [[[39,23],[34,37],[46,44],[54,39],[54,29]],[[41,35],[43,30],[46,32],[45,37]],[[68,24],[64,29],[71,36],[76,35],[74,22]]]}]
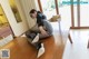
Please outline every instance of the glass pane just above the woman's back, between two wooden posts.
[{"label": "glass pane just above the woman's back, between two wooden posts", "polygon": [[57,13],[55,0],[41,0],[41,4],[43,13],[47,16],[47,19],[50,19]]}]

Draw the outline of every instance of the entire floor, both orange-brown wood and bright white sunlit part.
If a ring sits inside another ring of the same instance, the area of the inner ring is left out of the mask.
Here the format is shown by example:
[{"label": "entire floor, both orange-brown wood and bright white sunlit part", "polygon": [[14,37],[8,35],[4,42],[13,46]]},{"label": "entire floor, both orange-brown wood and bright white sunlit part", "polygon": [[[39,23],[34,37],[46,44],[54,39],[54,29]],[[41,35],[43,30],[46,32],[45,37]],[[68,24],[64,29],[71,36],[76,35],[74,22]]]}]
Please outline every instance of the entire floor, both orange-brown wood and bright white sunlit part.
[{"label": "entire floor, both orange-brown wood and bright white sunlit part", "polygon": [[28,43],[26,37],[19,37],[1,49],[10,49],[10,59],[89,59],[89,29],[71,30],[72,45],[67,33],[65,29],[61,36],[56,29],[52,37],[41,40],[46,52],[40,58],[37,58],[37,49]]}]

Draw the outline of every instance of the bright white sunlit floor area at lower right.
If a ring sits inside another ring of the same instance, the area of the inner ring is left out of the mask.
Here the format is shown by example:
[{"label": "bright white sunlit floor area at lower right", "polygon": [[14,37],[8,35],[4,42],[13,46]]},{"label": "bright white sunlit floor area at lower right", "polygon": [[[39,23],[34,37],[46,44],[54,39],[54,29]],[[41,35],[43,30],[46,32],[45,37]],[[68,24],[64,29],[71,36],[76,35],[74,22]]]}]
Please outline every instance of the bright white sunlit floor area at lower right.
[{"label": "bright white sunlit floor area at lower right", "polygon": [[62,59],[89,59],[89,30],[71,30],[73,43],[67,41]]}]

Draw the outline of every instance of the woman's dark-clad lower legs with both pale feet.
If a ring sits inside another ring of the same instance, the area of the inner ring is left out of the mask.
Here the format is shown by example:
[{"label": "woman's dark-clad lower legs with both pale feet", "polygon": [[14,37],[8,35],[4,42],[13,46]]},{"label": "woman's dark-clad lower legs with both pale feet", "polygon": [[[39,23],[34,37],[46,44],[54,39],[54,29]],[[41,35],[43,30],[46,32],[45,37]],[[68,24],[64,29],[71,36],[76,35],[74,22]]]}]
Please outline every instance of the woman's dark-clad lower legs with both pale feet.
[{"label": "woman's dark-clad lower legs with both pale feet", "polygon": [[38,50],[38,58],[44,53],[44,47],[43,43],[39,41],[39,33],[36,33],[33,31],[27,31],[26,36],[28,37],[28,41],[36,47]]}]

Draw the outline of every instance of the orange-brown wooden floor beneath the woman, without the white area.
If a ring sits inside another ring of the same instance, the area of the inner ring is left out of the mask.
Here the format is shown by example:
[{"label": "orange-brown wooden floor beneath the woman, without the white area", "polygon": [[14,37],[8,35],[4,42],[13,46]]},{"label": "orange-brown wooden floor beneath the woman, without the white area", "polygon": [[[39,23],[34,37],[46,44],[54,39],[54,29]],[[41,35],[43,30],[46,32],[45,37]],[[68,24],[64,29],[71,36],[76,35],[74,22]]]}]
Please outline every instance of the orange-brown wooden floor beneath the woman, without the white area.
[{"label": "orange-brown wooden floor beneath the woman, without the white area", "polygon": [[46,52],[40,58],[37,58],[37,49],[28,43],[26,37],[17,38],[1,49],[10,49],[10,59],[62,59],[65,42],[61,36],[55,35],[41,41]]}]

